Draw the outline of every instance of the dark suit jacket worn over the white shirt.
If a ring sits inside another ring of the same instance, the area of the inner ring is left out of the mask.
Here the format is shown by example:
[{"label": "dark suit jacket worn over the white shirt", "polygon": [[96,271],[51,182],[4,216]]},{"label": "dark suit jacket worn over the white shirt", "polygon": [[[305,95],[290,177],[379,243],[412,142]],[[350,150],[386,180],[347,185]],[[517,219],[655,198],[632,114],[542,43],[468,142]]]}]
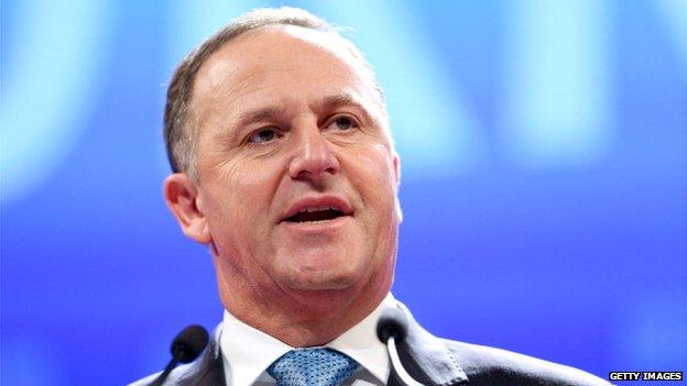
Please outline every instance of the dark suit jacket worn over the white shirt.
[{"label": "dark suit jacket worn over the white shirt", "polygon": [[[432,335],[405,307],[408,331],[399,344],[405,370],[419,383],[433,386],[609,386],[580,370],[515,354],[509,351],[449,341]],[[218,342],[219,328],[193,363],[172,372],[165,385],[225,386],[225,371]],[[155,375],[130,386],[149,385]],[[390,386],[403,386],[392,371]]]}]

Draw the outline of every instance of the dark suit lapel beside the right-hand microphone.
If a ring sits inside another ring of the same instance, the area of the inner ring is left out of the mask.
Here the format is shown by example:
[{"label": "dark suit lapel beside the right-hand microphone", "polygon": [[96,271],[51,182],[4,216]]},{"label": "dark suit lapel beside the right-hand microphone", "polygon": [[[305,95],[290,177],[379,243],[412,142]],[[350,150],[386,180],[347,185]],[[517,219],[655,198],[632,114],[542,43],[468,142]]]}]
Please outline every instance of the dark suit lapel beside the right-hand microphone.
[{"label": "dark suit lapel beside the right-hand microphone", "polygon": [[[399,356],[405,371],[423,385],[466,385],[468,377],[458,366],[446,344],[423,329],[401,302],[399,302],[399,308],[405,313],[408,326],[407,337],[399,345]],[[393,370],[388,385],[404,386]]]}]

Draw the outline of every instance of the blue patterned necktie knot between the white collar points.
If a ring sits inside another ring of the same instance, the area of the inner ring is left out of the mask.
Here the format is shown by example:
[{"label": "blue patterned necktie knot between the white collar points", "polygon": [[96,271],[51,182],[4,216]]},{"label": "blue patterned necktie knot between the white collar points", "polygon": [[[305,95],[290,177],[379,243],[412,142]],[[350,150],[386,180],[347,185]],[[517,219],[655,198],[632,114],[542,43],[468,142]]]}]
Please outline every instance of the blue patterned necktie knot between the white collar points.
[{"label": "blue patterned necktie knot between the white collar points", "polygon": [[331,349],[292,350],[268,367],[276,386],[339,386],[358,362]]}]

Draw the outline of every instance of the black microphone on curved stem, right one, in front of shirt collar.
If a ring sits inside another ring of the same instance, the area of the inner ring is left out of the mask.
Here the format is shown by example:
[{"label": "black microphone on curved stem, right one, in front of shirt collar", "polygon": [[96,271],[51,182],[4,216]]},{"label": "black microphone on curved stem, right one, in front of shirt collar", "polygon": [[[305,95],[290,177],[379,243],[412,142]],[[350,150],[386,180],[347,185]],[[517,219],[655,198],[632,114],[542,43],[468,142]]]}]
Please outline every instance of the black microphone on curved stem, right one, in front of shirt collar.
[{"label": "black microphone on curved stem, right one, in front of shirt collar", "polygon": [[413,379],[403,367],[401,359],[399,357],[396,343],[403,342],[406,335],[407,322],[403,312],[397,308],[384,310],[377,322],[377,338],[386,345],[386,351],[391,359],[391,367],[396,375],[399,375],[399,378],[401,378],[401,383],[407,386],[424,386],[419,382]]}]

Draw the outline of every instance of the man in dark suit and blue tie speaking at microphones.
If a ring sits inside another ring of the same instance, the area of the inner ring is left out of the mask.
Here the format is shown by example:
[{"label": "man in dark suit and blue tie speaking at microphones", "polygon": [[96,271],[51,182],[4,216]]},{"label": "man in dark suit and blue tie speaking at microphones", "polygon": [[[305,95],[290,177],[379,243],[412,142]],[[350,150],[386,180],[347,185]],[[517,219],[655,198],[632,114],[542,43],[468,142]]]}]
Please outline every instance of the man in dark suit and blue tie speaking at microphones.
[{"label": "man in dark suit and blue tie speaking at microphones", "polygon": [[375,335],[389,309],[406,315],[400,356],[423,384],[607,384],[437,339],[389,294],[401,166],[382,91],[360,52],[316,16],[253,11],[206,41],[173,77],[165,140],[167,205],[209,247],[226,310],[201,356],[167,384],[399,384]]}]

